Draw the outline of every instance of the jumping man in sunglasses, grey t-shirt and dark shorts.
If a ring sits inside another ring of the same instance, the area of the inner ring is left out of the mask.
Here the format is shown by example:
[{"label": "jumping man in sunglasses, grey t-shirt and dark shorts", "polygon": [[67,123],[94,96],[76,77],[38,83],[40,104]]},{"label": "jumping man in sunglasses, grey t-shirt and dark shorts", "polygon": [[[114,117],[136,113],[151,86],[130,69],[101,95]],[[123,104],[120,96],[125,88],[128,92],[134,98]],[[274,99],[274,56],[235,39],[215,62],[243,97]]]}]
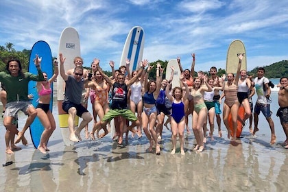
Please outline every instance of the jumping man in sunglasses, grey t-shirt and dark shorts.
[{"label": "jumping man in sunglasses, grey t-shirt and dark shorts", "polygon": [[[88,110],[82,106],[82,91],[85,84],[88,82],[88,78],[84,79],[84,69],[82,66],[75,66],[73,75],[68,75],[64,70],[65,59],[60,53],[60,75],[66,83],[65,96],[62,104],[62,108],[69,114],[68,126],[70,131],[70,140],[74,142],[82,141],[80,132],[81,130],[92,121],[92,115]],[[74,131],[75,115],[81,117],[83,120]]]}]

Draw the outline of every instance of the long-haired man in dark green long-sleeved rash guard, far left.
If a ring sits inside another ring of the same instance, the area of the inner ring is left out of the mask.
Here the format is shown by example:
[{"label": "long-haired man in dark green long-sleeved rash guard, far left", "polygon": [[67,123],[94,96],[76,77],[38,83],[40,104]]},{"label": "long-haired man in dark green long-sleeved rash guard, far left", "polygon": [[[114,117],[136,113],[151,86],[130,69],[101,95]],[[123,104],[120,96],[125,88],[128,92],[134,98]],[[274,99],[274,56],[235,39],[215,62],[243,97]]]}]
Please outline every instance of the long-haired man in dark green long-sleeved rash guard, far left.
[{"label": "long-haired man in dark green long-sleeved rash guard, far left", "polygon": [[[28,95],[28,83],[29,81],[44,81],[43,73],[40,69],[41,58],[34,59],[34,64],[38,70],[38,75],[34,75],[29,72],[23,73],[21,62],[19,60],[9,60],[6,65],[6,71],[0,72],[0,82],[5,85],[7,92],[7,104],[4,113],[3,125],[6,128],[5,144],[6,153],[14,154],[10,149],[10,140],[14,134],[18,134],[15,143],[19,143],[21,139],[23,144],[27,145],[27,140],[24,137],[24,133],[29,128],[29,125],[34,121],[37,116],[37,111],[29,101]],[[28,115],[23,130],[19,132],[16,127],[12,124],[12,121],[16,119],[17,113],[21,110]]]}]

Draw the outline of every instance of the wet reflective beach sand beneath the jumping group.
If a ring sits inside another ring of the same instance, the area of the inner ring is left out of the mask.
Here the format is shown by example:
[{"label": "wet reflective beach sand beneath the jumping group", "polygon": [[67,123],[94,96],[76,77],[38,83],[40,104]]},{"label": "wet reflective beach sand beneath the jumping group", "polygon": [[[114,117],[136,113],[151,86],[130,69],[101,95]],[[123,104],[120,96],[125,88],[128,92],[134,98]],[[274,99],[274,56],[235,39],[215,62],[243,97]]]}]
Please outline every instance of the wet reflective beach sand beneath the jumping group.
[{"label": "wet reflective beach sand beneath the jumping group", "polygon": [[[18,145],[23,149],[8,155],[1,121],[0,162],[14,163],[0,168],[0,191],[285,191],[288,150],[280,145],[285,136],[276,117],[276,92],[272,98],[276,145],[269,145],[271,132],[261,114],[257,138],[250,136],[247,125],[236,143],[230,143],[226,131],[223,138],[215,131],[215,141],[208,140],[204,152],[198,153],[192,150],[195,140],[190,134],[185,138],[184,156],[179,142],[176,154],[170,154],[171,132],[166,128],[160,156],[146,151],[149,142],[144,134],[141,139],[129,136],[127,145],[117,145],[108,134],[104,139],[84,139],[65,147],[60,128],[49,140],[49,154],[34,149],[28,130],[29,145]],[[54,105],[56,123],[57,111]],[[24,122],[25,116],[20,115],[20,127]],[[222,130],[226,130],[224,123]]]}]

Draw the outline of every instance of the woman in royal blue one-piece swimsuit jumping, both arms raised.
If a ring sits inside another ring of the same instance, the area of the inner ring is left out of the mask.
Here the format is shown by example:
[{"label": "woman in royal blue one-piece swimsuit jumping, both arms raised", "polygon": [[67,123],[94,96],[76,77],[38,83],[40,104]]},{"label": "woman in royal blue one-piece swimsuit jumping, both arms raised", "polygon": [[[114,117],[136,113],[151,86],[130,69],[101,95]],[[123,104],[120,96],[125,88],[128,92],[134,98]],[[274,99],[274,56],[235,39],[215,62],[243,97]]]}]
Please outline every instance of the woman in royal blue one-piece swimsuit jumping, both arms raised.
[{"label": "woman in royal blue one-piece swimsuit jumping, both arms raised", "polygon": [[172,114],[171,114],[171,130],[172,130],[172,145],[173,149],[171,154],[175,154],[176,152],[176,141],[177,134],[179,134],[180,140],[180,152],[181,155],[184,155],[184,128],[185,128],[185,111],[184,111],[184,101],[188,99],[189,96],[189,87],[187,86],[187,81],[184,76],[181,76],[182,83],[184,84],[186,91],[183,96],[182,88],[176,86],[173,88],[172,96],[170,93],[171,82],[168,82],[166,86],[166,97],[169,101],[172,102]]}]

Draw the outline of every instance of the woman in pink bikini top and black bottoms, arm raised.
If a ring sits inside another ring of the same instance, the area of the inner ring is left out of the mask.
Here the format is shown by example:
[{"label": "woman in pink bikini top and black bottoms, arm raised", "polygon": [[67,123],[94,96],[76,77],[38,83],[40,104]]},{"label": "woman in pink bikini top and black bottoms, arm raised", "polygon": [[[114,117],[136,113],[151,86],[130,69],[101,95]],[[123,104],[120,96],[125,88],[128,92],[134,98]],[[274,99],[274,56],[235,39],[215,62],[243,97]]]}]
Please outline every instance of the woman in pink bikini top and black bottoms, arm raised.
[{"label": "woman in pink bikini top and black bottoms, arm raised", "polygon": [[56,128],[55,119],[53,117],[51,110],[49,109],[52,93],[51,84],[54,82],[54,80],[56,80],[56,77],[58,76],[57,60],[54,60],[53,64],[54,64],[53,76],[48,80],[47,73],[43,72],[45,81],[37,82],[37,90],[39,95],[38,105],[36,106],[37,117],[39,118],[40,122],[45,128],[40,138],[38,150],[43,154],[46,154],[46,152],[49,151],[49,149],[47,148],[47,143],[51,134]]}]

